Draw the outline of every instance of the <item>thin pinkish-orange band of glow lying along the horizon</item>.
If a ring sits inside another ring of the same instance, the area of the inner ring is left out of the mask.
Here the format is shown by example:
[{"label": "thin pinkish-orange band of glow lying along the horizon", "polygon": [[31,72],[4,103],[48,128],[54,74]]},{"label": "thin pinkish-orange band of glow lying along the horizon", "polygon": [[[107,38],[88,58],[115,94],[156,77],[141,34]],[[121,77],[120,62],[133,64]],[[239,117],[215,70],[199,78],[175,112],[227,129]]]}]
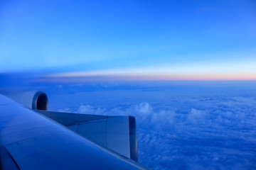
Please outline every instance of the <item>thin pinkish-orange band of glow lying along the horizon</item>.
[{"label": "thin pinkish-orange band of glow lying along the horizon", "polygon": [[38,81],[253,81],[256,73],[107,73],[79,72],[44,75]]}]

